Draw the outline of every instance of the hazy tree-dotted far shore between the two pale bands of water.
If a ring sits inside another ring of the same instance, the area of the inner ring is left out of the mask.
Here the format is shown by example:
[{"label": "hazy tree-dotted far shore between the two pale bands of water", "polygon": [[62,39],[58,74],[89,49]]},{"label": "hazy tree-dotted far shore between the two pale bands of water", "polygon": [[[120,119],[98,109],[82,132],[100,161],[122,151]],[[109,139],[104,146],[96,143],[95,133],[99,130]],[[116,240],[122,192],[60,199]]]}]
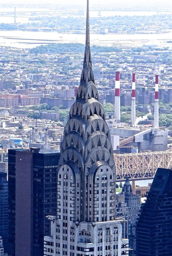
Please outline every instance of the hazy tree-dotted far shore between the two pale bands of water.
[{"label": "hazy tree-dotted far shore between the two pale bands of water", "polygon": [[[94,34],[105,33],[105,28],[110,34],[136,34],[136,33],[164,33],[172,28],[169,14],[151,16],[99,16],[90,17],[90,30]],[[58,33],[85,33],[84,16],[37,16],[29,18],[28,23],[3,24],[1,30],[35,30],[49,28]]]}]

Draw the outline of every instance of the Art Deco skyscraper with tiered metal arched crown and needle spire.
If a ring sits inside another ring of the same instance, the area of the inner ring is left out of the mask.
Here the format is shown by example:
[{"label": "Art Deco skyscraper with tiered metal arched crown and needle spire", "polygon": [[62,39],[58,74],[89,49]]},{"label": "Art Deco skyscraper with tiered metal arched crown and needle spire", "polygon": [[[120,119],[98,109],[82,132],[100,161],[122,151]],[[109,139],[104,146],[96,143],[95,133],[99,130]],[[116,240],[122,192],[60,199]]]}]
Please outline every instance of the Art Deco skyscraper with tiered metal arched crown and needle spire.
[{"label": "Art Deco skyscraper with tiered metal arched crown and needle spire", "polygon": [[110,131],[92,70],[87,0],[83,70],[64,129],[58,165],[57,218],[49,217],[52,233],[45,237],[45,256],[119,256],[122,250],[128,250],[127,239],[122,245],[124,220],[115,220],[115,183]]}]

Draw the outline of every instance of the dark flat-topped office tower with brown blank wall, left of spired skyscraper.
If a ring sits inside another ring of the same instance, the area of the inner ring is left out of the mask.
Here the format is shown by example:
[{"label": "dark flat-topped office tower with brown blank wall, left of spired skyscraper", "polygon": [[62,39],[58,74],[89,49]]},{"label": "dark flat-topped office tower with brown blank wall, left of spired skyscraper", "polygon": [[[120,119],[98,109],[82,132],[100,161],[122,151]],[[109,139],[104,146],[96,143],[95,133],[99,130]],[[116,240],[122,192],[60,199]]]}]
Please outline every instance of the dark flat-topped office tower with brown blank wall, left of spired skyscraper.
[{"label": "dark flat-topped office tower with brown blank wall, left of spired skyscraper", "polygon": [[57,151],[8,151],[8,256],[44,255],[46,215],[57,214]]}]

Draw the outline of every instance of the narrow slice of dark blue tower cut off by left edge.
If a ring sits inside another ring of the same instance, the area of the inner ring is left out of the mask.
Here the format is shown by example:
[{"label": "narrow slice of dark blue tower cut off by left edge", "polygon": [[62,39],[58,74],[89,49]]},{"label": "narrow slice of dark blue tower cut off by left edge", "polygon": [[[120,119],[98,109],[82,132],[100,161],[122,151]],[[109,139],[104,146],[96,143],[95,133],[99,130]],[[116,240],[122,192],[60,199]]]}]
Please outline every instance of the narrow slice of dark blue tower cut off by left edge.
[{"label": "narrow slice of dark blue tower cut off by left edge", "polygon": [[8,251],[8,182],[7,173],[0,172],[0,236],[4,252]]}]

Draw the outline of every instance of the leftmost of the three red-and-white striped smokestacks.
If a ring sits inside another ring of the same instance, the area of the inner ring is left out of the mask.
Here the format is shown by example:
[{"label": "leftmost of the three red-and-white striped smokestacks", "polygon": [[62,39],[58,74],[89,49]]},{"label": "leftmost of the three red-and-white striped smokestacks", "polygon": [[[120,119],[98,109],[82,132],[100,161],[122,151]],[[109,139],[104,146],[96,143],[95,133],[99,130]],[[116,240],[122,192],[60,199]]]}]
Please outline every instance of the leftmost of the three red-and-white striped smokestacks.
[{"label": "leftmost of the three red-and-white striped smokestacks", "polygon": [[120,123],[120,72],[116,71],[115,75],[115,109],[114,118]]}]

